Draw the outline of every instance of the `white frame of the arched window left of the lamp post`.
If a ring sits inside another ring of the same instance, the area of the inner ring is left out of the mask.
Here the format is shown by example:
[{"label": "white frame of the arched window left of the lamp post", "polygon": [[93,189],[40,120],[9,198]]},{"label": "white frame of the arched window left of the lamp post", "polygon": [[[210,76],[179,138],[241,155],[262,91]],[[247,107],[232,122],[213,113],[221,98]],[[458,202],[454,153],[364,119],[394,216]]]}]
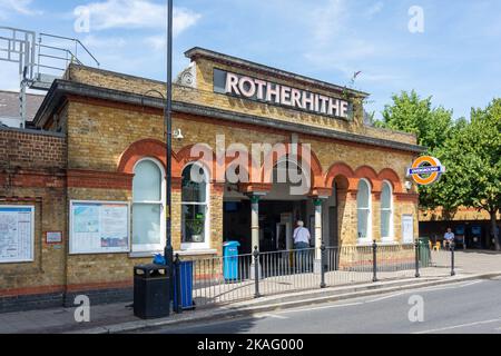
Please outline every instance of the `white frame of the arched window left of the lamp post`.
[{"label": "white frame of the arched window left of the lamp post", "polygon": [[132,226],[132,236],[130,238],[131,240],[131,253],[161,253],[164,250],[165,244],[166,244],[166,226],[165,226],[165,211],[166,211],[166,205],[167,205],[167,197],[166,197],[166,175],[165,175],[165,169],[164,166],[155,158],[151,157],[144,157],[141,159],[139,159],[135,165],[134,165],[134,172],[136,171],[136,167],[145,161],[145,160],[149,160],[151,162],[154,162],[159,169],[160,169],[160,181],[161,181],[161,187],[160,187],[160,200],[141,200],[141,201],[136,201],[134,199],[134,184],[132,184],[132,219],[131,222],[134,221],[134,206],[135,205],[140,205],[140,204],[157,204],[160,205],[160,243],[159,244],[134,244],[134,226]]}]

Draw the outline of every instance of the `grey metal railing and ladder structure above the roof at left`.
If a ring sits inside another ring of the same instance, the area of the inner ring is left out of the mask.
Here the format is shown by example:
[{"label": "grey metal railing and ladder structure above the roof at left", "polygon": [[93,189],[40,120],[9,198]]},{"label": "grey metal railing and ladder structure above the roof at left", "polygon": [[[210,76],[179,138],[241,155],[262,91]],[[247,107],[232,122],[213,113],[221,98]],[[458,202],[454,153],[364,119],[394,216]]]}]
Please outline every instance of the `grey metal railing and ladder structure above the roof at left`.
[{"label": "grey metal railing and ladder structure above the roof at left", "polygon": [[49,90],[52,81],[70,63],[99,67],[100,63],[80,40],[49,33],[37,33],[0,27],[0,61],[19,65],[19,115],[26,122],[26,90]]}]

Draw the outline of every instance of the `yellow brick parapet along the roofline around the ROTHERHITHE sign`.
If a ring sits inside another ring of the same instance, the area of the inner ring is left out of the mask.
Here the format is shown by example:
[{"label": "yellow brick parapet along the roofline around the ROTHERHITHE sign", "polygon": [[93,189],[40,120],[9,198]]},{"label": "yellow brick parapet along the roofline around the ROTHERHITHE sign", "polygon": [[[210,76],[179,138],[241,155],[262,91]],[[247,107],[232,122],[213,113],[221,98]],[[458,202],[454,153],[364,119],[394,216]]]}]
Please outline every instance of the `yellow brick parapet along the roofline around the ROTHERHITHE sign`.
[{"label": "yellow brick parapet along the roofline around the ROTHERHITHE sign", "polygon": [[[363,105],[362,102],[360,102],[360,100],[354,102],[355,106],[354,110],[356,112],[354,120],[342,120],[342,119],[333,119],[331,117],[322,115],[302,112],[288,108],[264,105],[262,102],[255,102],[246,99],[215,93],[213,90],[213,70],[215,67],[222,70],[237,71],[238,73],[242,75],[248,75],[256,78],[272,80],[269,76],[259,75],[245,69],[235,69],[226,65],[215,63],[207,59],[199,58],[197,59],[196,62],[197,88],[193,89],[179,85],[174,85],[173,99],[177,101],[193,102],[198,105],[204,103],[205,106],[213,108],[227,109],[243,113],[263,116],[276,120],[307,123],[313,127],[324,129],[328,128],[337,131],[360,134],[380,139],[391,139],[413,145],[416,144],[416,138],[414,135],[373,128],[363,125]],[[165,85],[159,81],[76,65],[71,65],[68,68],[66,78],[77,82],[84,82],[92,86],[102,86],[110,89],[134,92],[139,95],[145,95],[146,92],[149,91],[148,93],[149,96],[156,97],[158,97],[158,95],[151,92],[150,90],[156,90],[160,92],[165,92],[166,90]],[[314,90],[315,92],[318,93],[332,97],[340,97],[338,92],[326,91],[324,89],[317,88],[312,89],[302,83],[285,81],[279,78],[273,78],[273,81],[277,83],[289,85],[298,89]]]}]

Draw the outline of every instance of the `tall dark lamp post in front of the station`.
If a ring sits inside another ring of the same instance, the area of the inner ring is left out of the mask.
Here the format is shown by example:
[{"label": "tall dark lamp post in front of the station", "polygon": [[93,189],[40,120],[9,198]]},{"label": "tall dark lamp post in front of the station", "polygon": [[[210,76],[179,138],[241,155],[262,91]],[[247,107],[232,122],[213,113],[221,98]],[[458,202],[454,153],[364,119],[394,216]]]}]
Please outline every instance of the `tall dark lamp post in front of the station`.
[{"label": "tall dark lamp post in front of the station", "polygon": [[170,209],[170,200],[171,200],[171,109],[173,109],[173,0],[168,0],[167,2],[167,92],[166,98],[167,102],[164,108],[164,120],[165,120],[165,138],[166,138],[166,211],[165,211],[165,233],[166,233],[166,241],[164,256],[167,266],[169,267],[170,273],[173,271],[173,240],[171,240],[171,209]]}]

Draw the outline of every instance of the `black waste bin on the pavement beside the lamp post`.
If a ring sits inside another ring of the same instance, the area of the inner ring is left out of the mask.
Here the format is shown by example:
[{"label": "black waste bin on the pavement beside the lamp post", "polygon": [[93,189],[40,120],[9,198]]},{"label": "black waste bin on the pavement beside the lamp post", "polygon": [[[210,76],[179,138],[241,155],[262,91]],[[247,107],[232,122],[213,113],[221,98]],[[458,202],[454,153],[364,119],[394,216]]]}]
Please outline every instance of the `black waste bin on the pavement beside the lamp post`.
[{"label": "black waste bin on the pavement beside the lamp post", "polygon": [[170,274],[165,265],[134,267],[134,315],[160,318],[170,312]]}]

